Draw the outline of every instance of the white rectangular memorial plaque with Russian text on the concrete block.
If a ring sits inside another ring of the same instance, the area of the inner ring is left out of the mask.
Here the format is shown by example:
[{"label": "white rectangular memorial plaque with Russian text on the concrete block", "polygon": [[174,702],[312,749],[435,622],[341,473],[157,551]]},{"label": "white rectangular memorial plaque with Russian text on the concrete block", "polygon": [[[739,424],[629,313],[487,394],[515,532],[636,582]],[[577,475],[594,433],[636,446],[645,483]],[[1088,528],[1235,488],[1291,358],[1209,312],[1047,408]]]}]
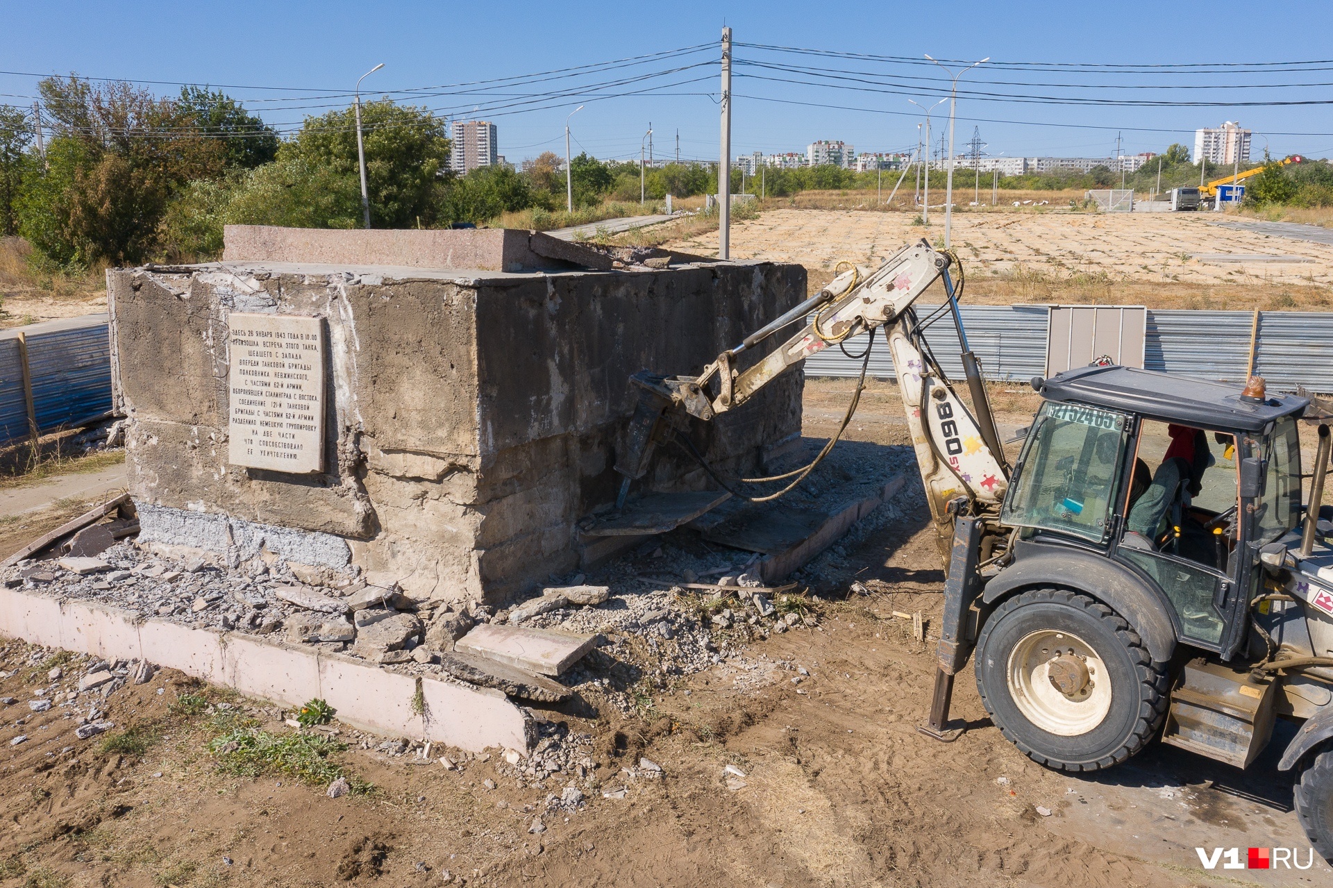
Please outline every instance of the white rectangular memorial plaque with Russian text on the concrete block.
[{"label": "white rectangular memorial plaque with Russian text on the concrete block", "polygon": [[228,461],[279,472],[324,469],[324,321],[232,312]]}]

